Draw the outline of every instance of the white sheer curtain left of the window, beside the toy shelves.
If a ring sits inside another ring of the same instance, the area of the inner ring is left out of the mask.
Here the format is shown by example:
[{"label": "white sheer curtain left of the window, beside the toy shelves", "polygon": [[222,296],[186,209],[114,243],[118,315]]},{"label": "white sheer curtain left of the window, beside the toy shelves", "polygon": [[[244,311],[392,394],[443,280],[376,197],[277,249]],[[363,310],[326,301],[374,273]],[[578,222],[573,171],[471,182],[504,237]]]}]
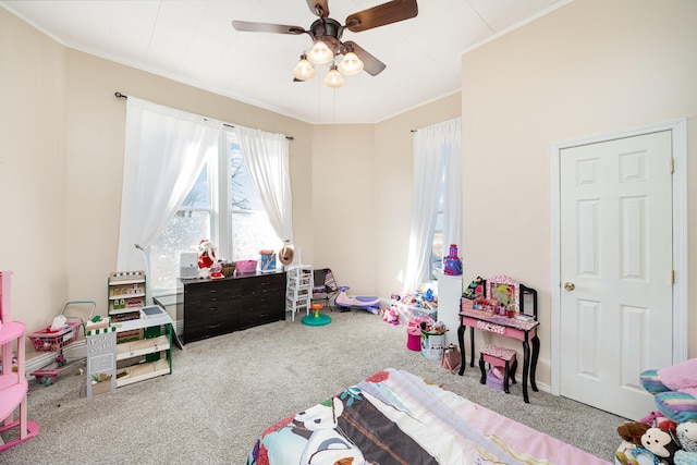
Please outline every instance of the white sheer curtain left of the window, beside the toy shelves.
[{"label": "white sheer curtain left of the window, beside the toy shelves", "polygon": [[217,156],[221,134],[220,122],[129,97],[118,271],[149,274],[144,250]]}]

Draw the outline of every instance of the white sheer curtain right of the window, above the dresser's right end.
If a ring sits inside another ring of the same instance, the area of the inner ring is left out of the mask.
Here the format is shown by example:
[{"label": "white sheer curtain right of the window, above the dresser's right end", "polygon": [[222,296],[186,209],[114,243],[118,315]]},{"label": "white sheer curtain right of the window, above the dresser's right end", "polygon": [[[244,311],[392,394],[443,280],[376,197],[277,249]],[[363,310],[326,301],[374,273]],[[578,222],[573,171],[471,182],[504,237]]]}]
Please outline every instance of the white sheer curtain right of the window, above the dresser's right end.
[{"label": "white sheer curtain right of the window, above the dresser's right end", "polygon": [[293,198],[289,140],[283,134],[235,126],[252,182],[261,197],[276,235],[293,242]]}]

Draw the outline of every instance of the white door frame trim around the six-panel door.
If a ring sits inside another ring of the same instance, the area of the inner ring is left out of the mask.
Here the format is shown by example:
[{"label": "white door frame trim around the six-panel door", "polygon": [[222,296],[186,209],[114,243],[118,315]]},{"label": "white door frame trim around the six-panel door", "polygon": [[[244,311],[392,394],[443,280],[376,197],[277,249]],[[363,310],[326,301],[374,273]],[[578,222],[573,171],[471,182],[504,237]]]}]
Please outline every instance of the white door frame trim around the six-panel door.
[{"label": "white door frame trim around the six-panel door", "polygon": [[[687,250],[687,121],[683,119],[648,124],[624,131],[590,135],[571,140],[550,144],[551,185],[551,392],[561,394],[561,224],[560,224],[560,158],[562,150],[582,145],[598,144],[619,138],[671,131],[673,150],[673,364],[687,359],[687,294],[688,294],[688,250]],[[670,167],[667,167],[667,169]],[[652,367],[661,368],[661,367]]]}]

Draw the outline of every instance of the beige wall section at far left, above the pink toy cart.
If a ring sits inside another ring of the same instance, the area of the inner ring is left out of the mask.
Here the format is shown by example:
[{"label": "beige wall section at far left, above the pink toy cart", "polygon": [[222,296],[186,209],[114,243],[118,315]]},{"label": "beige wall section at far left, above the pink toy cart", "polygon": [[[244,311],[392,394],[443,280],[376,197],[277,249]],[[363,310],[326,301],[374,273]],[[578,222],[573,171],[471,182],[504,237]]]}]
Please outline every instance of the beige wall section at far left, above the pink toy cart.
[{"label": "beige wall section at far left, above the pink toy cart", "polygon": [[0,8],[0,270],[32,329],[68,299],[65,57]]}]

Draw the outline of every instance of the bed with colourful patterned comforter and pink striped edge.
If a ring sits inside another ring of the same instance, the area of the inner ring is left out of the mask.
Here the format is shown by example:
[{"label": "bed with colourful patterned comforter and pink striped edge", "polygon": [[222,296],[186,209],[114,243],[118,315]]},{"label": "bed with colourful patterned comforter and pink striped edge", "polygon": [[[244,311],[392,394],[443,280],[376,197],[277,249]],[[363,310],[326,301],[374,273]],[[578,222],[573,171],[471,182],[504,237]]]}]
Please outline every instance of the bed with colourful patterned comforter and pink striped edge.
[{"label": "bed with colourful patterned comforter and pink striped edge", "polygon": [[247,465],[608,464],[407,371],[389,368],[257,440]]}]

